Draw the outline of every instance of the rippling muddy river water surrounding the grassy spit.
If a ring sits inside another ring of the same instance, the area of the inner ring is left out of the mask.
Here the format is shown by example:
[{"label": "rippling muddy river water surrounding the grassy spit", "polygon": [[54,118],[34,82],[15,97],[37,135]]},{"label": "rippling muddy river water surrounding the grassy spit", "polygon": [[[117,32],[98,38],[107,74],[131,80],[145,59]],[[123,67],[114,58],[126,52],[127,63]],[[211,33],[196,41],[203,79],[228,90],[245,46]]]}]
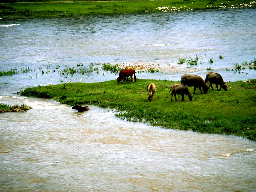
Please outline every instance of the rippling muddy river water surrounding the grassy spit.
[{"label": "rippling muddy river water surrounding the grassy spit", "polygon": [[[234,63],[254,60],[255,14],[232,9],[1,18],[0,71],[19,73],[0,77],[0,103],[32,109],[0,114],[0,191],[254,191],[253,141],[122,121],[115,110],[96,106],[78,113],[51,99],[13,93],[79,82],[81,76],[83,82],[115,79],[97,65],[104,62],[160,69],[145,69],[138,81],[180,80],[184,73],[204,78],[207,67],[227,82],[255,78],[248,68],[231,71]],[[177,64],[196,55],[196,66]],[[68,67],[89,70],[91,63],[99,74],[62,75]]]}]

